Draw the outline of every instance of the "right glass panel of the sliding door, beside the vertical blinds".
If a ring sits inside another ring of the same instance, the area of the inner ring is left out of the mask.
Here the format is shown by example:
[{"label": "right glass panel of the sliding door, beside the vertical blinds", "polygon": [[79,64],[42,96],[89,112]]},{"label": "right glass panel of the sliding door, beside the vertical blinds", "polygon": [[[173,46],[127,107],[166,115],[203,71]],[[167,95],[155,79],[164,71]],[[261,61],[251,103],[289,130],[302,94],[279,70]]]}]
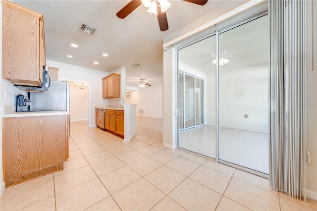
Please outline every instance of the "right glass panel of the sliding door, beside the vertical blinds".
[{"label": "right glass panel of the sliding door, beside the vertical blinds", "polygon": [[267,15],[219,33],[219,159],[268,174]]}]

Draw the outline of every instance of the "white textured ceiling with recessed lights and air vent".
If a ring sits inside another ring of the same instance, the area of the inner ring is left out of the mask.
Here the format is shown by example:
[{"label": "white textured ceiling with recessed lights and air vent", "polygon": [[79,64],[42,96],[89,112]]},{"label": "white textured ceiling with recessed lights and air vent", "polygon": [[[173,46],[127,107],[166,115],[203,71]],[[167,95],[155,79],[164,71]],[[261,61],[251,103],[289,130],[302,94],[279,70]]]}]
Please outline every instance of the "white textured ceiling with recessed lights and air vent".
[{"label": "white textured ceiling with recessed lights and air vent", "polygon": [[[129,0],[14,2],[44,15],[47,59],[103,71],[125,66],[127,86],[137,86],[140,78],[153,85],[162,83],[163,38],[228,4],[228,0],[209,0],[204,6],[170,0],[172,5],[166,12],[169,29],[161,32],[157,17],[151,17],[143,5],[125,19],[116,17],[116,12]],[[95,34],[91,36],[78,31],[81,22],[96,28]],[[79,47],[72,48],[71,43]],[[102,53],[109,56],[104,57]],[[69,54],[74,57],[66,57]],[[134,63],[141,66],[133,67]]]}]

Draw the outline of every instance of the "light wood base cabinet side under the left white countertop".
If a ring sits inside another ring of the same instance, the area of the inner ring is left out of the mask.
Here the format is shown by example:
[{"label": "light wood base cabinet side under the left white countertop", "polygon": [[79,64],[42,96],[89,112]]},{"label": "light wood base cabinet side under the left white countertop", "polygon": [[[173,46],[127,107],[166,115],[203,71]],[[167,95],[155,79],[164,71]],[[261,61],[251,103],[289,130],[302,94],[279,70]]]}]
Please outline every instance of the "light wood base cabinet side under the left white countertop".
[{"label": "light wood base cabinet side under the left white countertop", "polygon": [[3,179],[11,186],[62,169],[69,115],[3,118]]}]

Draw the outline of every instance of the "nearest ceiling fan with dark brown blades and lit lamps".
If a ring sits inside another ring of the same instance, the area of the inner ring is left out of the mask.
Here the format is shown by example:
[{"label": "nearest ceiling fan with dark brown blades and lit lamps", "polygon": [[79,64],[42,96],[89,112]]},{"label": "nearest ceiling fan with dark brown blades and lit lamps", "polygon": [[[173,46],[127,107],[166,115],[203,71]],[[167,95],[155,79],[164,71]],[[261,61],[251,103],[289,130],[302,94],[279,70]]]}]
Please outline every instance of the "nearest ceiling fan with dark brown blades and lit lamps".
[{"label": "nearest ceiling fan with dark brown blades and lit lamps", "polygon": [[[205,5],[208,0],[184,0],[198,5]],[[148,12],[155,14],[158,17],[160,31],[168,29],[166,10],[170,7],[171,3],[167,0],[131,0],[120,11],[117,12],[117,17],[123,19],[128,16],[138,6],[143,4],[149,7]],[[160,8],[160,9],[159,9]]]}]

